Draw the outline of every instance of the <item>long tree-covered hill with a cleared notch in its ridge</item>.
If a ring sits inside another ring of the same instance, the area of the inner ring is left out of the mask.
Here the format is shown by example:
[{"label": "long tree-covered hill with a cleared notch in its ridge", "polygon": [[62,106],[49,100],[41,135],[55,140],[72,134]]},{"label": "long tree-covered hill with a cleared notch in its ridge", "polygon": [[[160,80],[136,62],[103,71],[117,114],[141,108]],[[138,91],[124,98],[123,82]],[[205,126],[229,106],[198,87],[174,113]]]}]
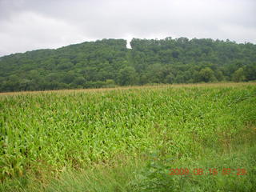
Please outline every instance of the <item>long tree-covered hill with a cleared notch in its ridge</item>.
[{"label": "long tree-covered hill with a cleared notch in its ridge", "polygon": [[0,58],[0,91],[252,81],[256,45],[212,39],[103,39]]}]

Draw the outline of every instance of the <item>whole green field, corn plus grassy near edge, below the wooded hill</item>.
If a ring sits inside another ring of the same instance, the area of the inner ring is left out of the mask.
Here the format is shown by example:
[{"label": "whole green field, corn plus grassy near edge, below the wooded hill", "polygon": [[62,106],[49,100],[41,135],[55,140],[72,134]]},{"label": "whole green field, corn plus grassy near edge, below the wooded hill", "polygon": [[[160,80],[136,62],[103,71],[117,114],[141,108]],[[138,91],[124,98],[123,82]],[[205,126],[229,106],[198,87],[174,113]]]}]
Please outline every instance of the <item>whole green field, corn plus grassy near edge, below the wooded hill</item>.
[{"label": "whole green field, corn plus grassy near edge, below the wooded hill", "polygon": [[254,83],[0,94],[0,137],[2,191],[256,191]]}]

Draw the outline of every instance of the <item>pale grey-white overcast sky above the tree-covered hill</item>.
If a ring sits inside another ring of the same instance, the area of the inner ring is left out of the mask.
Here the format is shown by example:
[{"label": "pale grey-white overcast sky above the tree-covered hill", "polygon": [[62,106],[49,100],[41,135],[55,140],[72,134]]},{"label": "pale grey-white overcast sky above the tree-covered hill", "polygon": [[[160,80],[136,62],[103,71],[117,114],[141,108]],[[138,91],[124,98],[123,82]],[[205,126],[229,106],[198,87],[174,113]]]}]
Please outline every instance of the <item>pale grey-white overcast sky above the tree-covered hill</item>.
[{"label": "pale grey-white overcast sky above the tree-covered hill", "polygon": [[255,0],[0,0],[0,56],[102,38],[256,43]]}]

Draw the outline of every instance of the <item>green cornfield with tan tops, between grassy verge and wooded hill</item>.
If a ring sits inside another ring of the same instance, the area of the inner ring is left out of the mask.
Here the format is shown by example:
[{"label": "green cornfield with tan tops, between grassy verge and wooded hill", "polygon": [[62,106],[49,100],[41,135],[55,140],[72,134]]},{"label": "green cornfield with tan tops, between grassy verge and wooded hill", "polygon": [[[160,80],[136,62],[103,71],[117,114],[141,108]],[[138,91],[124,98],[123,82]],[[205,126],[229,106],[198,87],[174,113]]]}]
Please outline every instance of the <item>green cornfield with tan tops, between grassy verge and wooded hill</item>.
[{"label": "green cornfield with tan tops, between grassy verge and wooded hill", "polygon": [[[207,161],[254,147],[255,125],[255,83],[3,93],[0,185],[29,174],[42,182],[66,170],[146,162],[150,154],[179,166]],[[255,176],[256,165],[247,169]]]}]

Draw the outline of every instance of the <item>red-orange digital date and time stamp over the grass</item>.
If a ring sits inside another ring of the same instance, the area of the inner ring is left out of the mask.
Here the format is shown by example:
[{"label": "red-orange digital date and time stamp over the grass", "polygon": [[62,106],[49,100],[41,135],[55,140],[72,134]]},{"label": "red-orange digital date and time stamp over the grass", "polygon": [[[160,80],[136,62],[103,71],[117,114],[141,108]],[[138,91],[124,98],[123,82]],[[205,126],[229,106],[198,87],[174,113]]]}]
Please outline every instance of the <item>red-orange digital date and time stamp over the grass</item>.
[{"label": "red-orange digital date and time stamp over the grass", "polygon": [[247,174],[247,170],[245,168],[209,168],[209,169],[203,169],[203,168],[194,168],[194,169],[188,169],[188,168],[171,168],[169,170],[169,175],[237,175],[242,176]]}]

